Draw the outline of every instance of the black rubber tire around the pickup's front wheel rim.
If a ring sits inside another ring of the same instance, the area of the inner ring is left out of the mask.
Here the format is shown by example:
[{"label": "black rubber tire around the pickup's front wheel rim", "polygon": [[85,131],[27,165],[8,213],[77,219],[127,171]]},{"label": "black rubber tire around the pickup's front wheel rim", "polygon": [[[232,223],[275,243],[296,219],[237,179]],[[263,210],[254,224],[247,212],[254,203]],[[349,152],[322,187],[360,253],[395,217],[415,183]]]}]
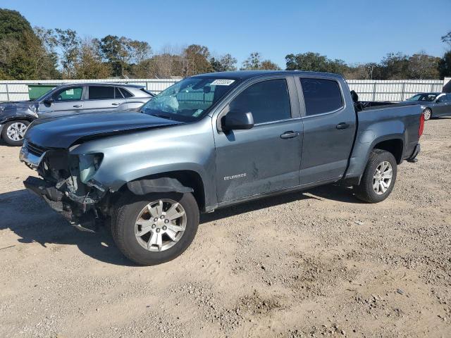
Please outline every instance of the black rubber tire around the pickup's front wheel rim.
[{"label": "black rubber tire around the pickup's front wheel rim", "polygon": [[[182,237],[170,248],[164,251],[149,251],[144,249],[135,237],[135,222],[138,215],[147,204],[160,199],[171,199],[178,202],[186,214],[186,227]],[[111,218],[111,234],[119,250],[138,265],[156,265],[173,260],[180,256],[190,246],[199,226],[199,207],[192,194],[175,192],[153,193],[145,196],[127,194],[118,201]]]}]

